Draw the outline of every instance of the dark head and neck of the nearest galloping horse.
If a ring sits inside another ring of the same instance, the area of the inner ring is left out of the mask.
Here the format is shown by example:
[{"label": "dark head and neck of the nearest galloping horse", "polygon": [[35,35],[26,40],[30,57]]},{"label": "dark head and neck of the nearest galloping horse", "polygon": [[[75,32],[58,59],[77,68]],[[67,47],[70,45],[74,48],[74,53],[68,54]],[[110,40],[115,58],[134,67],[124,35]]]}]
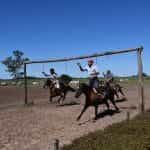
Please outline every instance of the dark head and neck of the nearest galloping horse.
[{"label": "dark head and neck of the nearest galloping horse", "polygon": [[76,91],[75,98],[79,98],[82,93],[86,94],[89,91],[89,86],[85,83],[79,85],[78,90]]}]

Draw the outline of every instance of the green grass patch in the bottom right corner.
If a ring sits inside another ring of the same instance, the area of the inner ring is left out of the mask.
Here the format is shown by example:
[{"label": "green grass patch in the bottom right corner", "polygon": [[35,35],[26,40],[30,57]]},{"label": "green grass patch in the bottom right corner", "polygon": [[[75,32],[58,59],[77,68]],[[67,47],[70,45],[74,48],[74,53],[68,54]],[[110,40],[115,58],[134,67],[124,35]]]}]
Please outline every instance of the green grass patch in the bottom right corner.
[{"label": "green grass patch in the bottom right corner", "polygon": [[63,150],[150,150],[150,112],[76,139]]}]

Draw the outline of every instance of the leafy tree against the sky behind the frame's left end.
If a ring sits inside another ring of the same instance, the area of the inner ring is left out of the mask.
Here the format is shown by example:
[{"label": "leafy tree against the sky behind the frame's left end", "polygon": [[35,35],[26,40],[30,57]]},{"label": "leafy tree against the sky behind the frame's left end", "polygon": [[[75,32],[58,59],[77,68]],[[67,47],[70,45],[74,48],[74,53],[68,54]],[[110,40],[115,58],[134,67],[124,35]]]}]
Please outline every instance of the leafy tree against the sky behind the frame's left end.
[{"label": "leafy tree against the sky behind the frame's left end", "polygon": [[6,66],[6,71],[13,76],[13,78],[17,78],[21,69],[24,61],[28,61],[29,58],[23,58],[24,53],[15,50],[13,51],[13,55],[10,57],[5,58],[5,60],[2,61],[2,64]]}]

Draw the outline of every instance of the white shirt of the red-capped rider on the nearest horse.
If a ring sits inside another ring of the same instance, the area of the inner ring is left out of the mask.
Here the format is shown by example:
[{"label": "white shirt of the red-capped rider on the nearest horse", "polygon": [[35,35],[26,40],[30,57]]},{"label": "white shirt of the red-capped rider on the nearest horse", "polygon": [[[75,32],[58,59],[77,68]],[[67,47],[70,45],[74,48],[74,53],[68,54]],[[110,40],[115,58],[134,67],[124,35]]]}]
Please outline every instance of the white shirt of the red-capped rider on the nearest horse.
[{"label": "white shirt of the red-capped rider on the nearest horse", "polygon": [[97,77],[97,73],[99,71],[96,65],[92,65],[91,67],[89,67],[89,65],[86,65],[85,69],[87,70],[90,78]]}]

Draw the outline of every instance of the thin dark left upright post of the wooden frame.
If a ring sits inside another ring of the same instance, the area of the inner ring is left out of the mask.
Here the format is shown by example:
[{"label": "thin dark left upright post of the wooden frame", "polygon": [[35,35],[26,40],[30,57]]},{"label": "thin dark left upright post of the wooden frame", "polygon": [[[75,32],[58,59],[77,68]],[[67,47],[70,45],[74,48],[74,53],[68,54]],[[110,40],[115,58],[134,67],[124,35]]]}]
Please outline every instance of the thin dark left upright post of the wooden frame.
[{"label": "thin dark left upright post of the wooden frame", "polygon": [[25,63],[24,63],[24,90],[25,90],[24,103],[28,104],[27,64],[25,64]]}]

